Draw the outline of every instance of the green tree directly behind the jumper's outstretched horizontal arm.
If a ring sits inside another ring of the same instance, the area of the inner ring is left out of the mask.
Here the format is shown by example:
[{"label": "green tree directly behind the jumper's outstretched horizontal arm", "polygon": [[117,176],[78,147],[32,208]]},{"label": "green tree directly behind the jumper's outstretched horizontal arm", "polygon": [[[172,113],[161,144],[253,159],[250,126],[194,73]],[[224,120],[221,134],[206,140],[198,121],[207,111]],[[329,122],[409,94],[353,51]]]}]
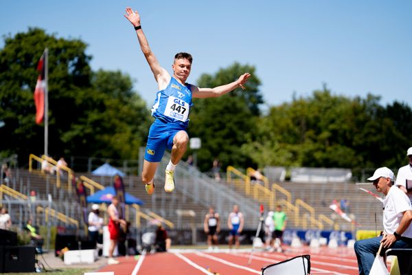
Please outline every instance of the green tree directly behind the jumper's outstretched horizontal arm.
[{"label": "green tree directly behind the jumper's outstretched horizontal arm", "polygon": [[247,136],[253,140],[257,128],[255,121],[262,104],[258,89],[260,80],[255,76],[255,68],[234,63],[213,76],[203,74],[197,84],[198,87],[217,87],[237,80],[245,72],[251,73],[245,91],[239,88],[218,98],[194,99],[188,132],[190,137],[201,137],[198,166],[202,170],[209,170],[215,157],[224,168],[251,164],[250,157],[240,148],[247,142]]}]

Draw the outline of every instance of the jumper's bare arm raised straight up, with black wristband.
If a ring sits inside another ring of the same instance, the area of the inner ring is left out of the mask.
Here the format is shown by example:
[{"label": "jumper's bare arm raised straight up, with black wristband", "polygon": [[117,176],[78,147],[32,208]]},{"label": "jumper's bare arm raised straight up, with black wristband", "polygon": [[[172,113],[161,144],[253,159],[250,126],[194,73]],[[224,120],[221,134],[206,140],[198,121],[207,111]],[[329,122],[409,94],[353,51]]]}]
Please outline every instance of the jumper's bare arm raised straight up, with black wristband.
[{"label": "jumper's bare arm raised straight up, with black wristband", "polygon": [[159,89],[161,89],[161,87],[167,86],[171,76],[165,69],[163,69],[163,67],[159,65],[159,61],[157,61],[155,54],[153,54],[152,50],[150,49],[148,40],[146,39],[146,36],[141,29],[140,14],[137,12],[137,10],[133,12],[131,8],[127,7],[124,17],[126,17],[126,19],[128,19],[128,21],[132,23],[133,27],[135,27],[141,52],[143,52],[144,57],[146,57],[146,60],[149,63],[150,69],[153,72],[153,76],[155,76],[155,79],[159,84]]}]

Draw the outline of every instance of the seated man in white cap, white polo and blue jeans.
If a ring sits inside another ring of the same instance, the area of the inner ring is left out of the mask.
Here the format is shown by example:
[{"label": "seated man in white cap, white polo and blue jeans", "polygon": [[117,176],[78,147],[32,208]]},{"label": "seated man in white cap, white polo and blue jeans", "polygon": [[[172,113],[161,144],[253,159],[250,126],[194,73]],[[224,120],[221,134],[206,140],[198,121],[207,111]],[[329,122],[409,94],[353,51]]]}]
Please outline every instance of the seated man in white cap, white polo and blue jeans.
[{"label": "seated man in white cap, white polo and blue jeans", "polygon": [[381,167],[376,169],[374,175],[367,180],[374,181],[376,190],[382,192],[385,199],[383,200],[383,236],[355,243],[359,274],[365,275],[371,270],[380,243],[385,249],[412,248],[411,201],[399,188],[391,188],[395,181],[393,172],[387,167]]}]

